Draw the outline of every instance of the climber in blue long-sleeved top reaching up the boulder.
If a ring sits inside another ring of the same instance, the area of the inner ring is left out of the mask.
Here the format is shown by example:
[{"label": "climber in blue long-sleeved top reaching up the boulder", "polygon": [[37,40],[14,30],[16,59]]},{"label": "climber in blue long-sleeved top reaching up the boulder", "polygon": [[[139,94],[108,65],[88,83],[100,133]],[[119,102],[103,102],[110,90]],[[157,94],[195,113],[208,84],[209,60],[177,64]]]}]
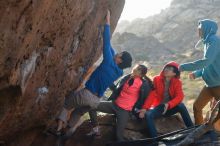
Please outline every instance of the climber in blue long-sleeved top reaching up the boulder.
[{"label": "climber in blue long-sleeved top reaching up the boulder", "polygon": [[[123,69],[131,67],[131,55],[126,51],[115,54],[110,43],[110,35],[110,11],[108,10],[103,33],[103,61],[92,73],[85,88],[72,91],[65,97],[63,110],[57,119],[57,128],[55,130],[51,128],[51,133],[61,135],[62,129],[68,125],[66,134],[72,135],[81,116],[97,108],[105,90],[122,76]],[[70,115],[69,120],[68,115]]]}]

